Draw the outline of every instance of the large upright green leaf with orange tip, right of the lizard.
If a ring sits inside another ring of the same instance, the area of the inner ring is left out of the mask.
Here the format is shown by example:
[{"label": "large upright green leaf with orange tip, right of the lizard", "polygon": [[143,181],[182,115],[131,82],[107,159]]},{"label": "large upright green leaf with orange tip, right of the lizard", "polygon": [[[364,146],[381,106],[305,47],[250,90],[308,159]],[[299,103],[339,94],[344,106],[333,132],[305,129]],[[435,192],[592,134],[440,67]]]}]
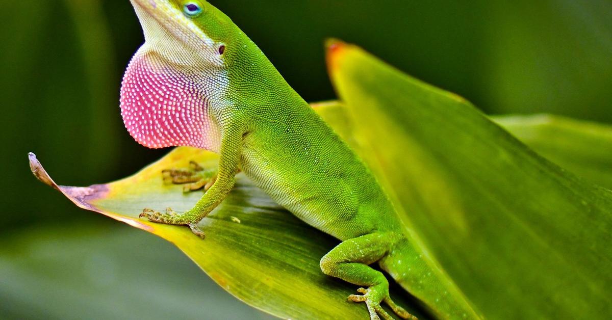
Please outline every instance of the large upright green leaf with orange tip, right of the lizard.
[{"label": "large upright green leaf with orange tip, right of the lizard", "polygon": [[360,48],[328,62],[364,159],[485,317],[610,317],[610,191]]}]

